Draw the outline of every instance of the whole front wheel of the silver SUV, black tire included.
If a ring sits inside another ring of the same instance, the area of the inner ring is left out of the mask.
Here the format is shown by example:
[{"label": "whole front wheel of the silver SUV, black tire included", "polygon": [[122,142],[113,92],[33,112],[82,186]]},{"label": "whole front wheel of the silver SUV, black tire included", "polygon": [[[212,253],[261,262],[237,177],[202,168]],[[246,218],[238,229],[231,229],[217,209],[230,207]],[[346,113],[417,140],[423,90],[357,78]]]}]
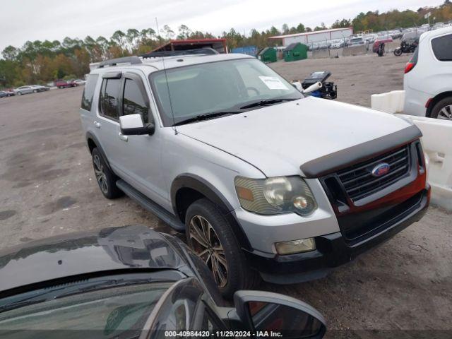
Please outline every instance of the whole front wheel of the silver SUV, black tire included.
[{"label": "whole front wheel of the silver SUV, black tire included", "polygon": [[[223,297],[230,299],[237,290],[252,290],[258,285],[258,273],[249,268],[229,223],[212,202],[201,198],[192,203],[186,211],[185,226],[189,247],[207,263]],[[207,239],[207,232],[210,237],[206,247],[201,242]]]}]

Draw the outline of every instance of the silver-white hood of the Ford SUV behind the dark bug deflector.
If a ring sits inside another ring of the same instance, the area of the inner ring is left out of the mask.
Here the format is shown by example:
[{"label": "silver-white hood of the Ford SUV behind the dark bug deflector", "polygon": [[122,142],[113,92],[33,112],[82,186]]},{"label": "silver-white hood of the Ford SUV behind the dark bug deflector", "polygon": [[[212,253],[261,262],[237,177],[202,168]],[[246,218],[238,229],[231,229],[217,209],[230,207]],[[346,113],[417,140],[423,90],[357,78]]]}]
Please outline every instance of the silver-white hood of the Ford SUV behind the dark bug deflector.
[{"label": "silver-white hood of the Ford SUV behind the dark bug deflector", "polygon": [[393,114],[306,97],[177,127],[258,167],[267,177],[295,175],[300,165],[410,126]]}]

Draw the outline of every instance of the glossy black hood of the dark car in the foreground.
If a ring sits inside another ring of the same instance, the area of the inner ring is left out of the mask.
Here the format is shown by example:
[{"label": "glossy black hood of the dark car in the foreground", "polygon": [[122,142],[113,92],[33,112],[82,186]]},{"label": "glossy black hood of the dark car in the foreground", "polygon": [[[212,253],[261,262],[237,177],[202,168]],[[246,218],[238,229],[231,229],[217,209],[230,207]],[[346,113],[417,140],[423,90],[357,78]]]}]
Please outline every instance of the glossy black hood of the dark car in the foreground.
[{"label": "glossy black hood of the dark car in the foreground", "polygon": [[177,242],[145,226],[105,228],[30,242],[0,252],[0,291],[46,280],[128,268],[181,269]]}]

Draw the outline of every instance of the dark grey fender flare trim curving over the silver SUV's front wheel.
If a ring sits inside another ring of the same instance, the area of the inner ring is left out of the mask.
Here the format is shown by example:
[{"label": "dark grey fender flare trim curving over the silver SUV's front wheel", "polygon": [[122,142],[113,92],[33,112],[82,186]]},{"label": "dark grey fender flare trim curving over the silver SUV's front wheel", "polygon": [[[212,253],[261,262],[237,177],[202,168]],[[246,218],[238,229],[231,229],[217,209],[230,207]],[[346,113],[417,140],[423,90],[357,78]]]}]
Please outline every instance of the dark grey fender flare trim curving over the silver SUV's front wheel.
[{"label": "dark grey fender flare trim curving over the silver SUV's front wheel", "polygon": [[234,208],[231,206],[229,201],[227,201],[225,196],[223,196],[221,192],[213,186],[213,184],[210,184],[210,182],[206,181],[206,179],[198,177],[196,174],[180,174],[172,182],[170,194],[172,208],[175,215],[179,215],[176,206],[177,191],[182,188],[194,189],[215,203],[221,213],[225,216],[227,222],[231,225],[232,232],[234,232],[235,237],[237,238],[237,241],[242,249],[252,250],[251,244],[249,243],[248,237],[246,237],[242,226],[235,218],[234,213],[231,213]]}]

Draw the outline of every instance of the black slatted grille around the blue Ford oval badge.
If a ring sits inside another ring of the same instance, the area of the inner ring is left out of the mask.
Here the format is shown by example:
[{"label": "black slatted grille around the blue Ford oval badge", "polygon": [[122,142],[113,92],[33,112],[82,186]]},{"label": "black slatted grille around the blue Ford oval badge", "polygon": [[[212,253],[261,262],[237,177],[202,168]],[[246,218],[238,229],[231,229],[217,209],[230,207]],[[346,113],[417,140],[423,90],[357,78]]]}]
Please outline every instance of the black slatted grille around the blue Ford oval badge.
[{"label": "black slatted grille around the blue Ford oval badge", "polygon": [[[371,174],[372,169],[381,162],[386,162],[390,166],[389,172],[381,177],[374,177]],[[405,145],[390,153],[347,167],[337,174],[350,199],[358,201],[393,184],[403,177],[408,169],[410,169],[410,152],[409,146]]]}]

